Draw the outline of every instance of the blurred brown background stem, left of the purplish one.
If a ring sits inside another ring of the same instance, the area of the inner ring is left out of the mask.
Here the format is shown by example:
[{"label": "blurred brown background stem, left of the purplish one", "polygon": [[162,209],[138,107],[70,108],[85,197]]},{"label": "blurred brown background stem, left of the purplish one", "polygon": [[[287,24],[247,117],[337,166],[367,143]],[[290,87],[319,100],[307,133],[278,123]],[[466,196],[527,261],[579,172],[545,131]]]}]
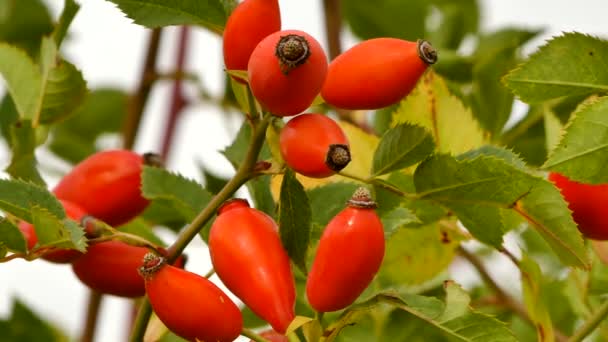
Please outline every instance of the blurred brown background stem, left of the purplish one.
[{"label": "blurred brown background stem, left of the purplish one", "polygon": [[161,29],[157,28],[150,33],[139,84],[135,93],[129,99],[127,118],[123,130],[123,147],[128,150],[132,149],[135,144],[135,137],[137,136],[139,124],[143,117],[144,107],[156,78],[156,60],[158,58],[161,32]]}]

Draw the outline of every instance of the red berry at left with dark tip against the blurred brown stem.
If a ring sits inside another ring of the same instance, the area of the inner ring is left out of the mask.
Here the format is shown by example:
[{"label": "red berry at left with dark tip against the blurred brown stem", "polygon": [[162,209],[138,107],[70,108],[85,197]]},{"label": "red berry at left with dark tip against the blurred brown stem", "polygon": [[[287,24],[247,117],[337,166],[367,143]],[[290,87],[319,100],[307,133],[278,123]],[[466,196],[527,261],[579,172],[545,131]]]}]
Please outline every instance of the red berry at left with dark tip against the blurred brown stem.
[{"label": "red berry at left with dark tip against the blurred brown stem", "polygon": [[143,165],[144,158],[131,151],[98,152],[76,165],[53,192],[109,225],[119,226],[149,204],[140,190]]}]

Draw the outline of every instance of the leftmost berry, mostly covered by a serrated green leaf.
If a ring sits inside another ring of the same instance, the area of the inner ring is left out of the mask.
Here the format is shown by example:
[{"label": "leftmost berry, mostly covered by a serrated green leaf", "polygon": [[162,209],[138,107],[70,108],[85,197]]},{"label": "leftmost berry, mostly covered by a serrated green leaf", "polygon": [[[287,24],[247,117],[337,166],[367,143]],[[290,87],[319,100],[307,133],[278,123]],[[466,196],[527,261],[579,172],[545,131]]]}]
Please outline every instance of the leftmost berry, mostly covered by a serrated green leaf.
[{"label": "leftmost berry, mostly covered by a serrated green leaf", "polygon": [[[59,202],[61,202],[61,204],[63,205],[66,215],[72,220],[80,221],[80,219],[86,215],[84,209],[72,202],[65,200],[59,200]],[[25,241],[27,242],[27,249],[31,250],[32,248],[34,248],[36,243],[38,243],[38,237],[36,236],[36,230],[34,229],[34,226],[30,223],[22,221],[19,223],[19,230],[21,230],[21,233],[23,233],[23,236],[25,237]],[[45,253],[42,258],[50,262],[64,264],[71,262],[72,260],[81,255],[82,253],[75,249],[55,249],[53,251]]]}]

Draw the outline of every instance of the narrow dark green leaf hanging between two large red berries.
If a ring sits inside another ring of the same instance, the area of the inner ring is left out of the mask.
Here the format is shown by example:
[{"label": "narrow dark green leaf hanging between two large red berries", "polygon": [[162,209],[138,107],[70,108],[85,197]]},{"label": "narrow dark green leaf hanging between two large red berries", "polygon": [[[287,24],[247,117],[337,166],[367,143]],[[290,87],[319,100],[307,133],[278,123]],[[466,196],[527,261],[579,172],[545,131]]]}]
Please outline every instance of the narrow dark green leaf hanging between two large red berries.
[{"label": "narrow dark green leaf hanging between two large red berries", "polygon": [[306,252],[310,242],[311,220],[306,191],[295,173],[286,170],[281,183],[279,233],[287,254],[304,273],[307,273]]}]

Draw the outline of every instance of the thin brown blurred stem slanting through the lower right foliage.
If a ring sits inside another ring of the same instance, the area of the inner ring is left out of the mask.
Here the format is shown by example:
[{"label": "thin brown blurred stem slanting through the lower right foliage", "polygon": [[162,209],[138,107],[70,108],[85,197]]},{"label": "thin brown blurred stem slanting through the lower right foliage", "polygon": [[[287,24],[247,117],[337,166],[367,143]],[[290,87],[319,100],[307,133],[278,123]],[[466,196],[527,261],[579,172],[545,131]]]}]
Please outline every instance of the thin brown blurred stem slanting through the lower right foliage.
[{"label": "thin brown blurred stem slanting through the lower right foliage", "polygon": [[[521,303],[517,302],[513,297],[511,297],[508,293],[506,293],[494,279],[490,276],[490,273],[483,265],[482,261],[473,253],[467,251],[462,246],[458,247],[458,254],[460,254],[463,258],[465,258],[479,273],[479,276],[483,280],[483,282],[492,289],[492,291],[496,294],[498,302],[502,303],[506,308],[513,311],[516,315],[521,317],[523,320],[532,324],[534,326],[534,322],[530,319],[526,308],[524,308]],[[555,333],[555,338],[557,341],[564,342],[567,340],[566,335],[560,332],[557,328],[553,328]]]}]

